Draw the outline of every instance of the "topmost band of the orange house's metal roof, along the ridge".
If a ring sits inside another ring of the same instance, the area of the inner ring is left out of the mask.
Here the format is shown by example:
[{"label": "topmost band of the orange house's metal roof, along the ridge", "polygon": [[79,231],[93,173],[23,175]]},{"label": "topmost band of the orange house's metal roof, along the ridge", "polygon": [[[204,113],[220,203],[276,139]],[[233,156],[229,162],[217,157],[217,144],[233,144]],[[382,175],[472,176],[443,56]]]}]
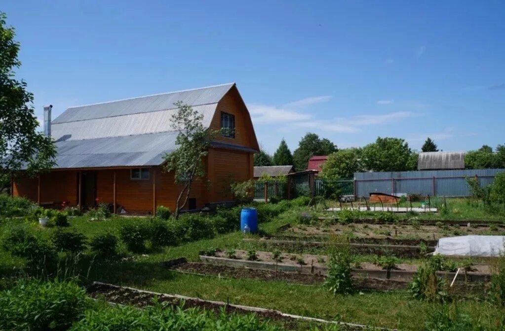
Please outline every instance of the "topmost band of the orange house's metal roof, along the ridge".
[{"label": "topmost band of the orange house's metal roof, along the ridge", "polygon": [[192,90],[168,92],[131,99],[96,103],[68,108],[52,123],[82,121],[93,118],[122,116],[174,109],[174,103],[182,101],[190,106],[217,103],[235,85],[235,83],[203,87]]}]

